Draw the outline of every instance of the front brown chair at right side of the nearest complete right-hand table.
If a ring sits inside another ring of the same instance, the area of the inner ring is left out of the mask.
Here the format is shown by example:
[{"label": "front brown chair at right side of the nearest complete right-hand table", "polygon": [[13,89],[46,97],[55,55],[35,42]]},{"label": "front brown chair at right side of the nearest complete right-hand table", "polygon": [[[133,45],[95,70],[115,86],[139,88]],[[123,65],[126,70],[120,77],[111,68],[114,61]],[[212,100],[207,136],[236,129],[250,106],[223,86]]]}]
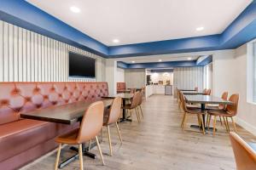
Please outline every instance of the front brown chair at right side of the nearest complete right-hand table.
[{"label": "front brown chair at right side of the nearest complete right-hand table", "polygon": [[229,126],[229,120],[228,120],[228,118],[230,117],[230,119],[232,121],[232,124],[233,124],[233,127],[234,127],[234,130],[236,132],[236,123],[233,119],[233,116],[236,116],[236,114],[237,114],[239,94],[232,94],[230,96],[229,101],[232,102],[233,105],[227,105],[226,109],[224,109],[224,110],[210,110],[210,111],[207,111],[207,114],[210,115],[209,116],[210,118],[208,120],[209,124],[211,122],[211,116],[214,116],[214,119],[213,119],[213,135],[215,135],[216,117],[217,116],[224,117],[224,124],[225,124],[226,129],[227,129],[228,132],[230,132],[230,126]]}]

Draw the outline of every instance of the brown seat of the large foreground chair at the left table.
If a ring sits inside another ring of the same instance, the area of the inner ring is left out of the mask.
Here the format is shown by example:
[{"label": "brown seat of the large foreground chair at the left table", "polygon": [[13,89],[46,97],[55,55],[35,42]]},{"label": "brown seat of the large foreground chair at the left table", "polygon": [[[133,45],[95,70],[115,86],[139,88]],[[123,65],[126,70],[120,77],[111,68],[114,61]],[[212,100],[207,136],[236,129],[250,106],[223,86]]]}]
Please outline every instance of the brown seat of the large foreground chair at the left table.
[{"label": "brown seat of the large foreground chair at the left table", "polygon": [[60,144],[79,144],[76,140],[78,136],[79,128],[76,128],[68,133],[61,134],[55,139],[55,142]]}]

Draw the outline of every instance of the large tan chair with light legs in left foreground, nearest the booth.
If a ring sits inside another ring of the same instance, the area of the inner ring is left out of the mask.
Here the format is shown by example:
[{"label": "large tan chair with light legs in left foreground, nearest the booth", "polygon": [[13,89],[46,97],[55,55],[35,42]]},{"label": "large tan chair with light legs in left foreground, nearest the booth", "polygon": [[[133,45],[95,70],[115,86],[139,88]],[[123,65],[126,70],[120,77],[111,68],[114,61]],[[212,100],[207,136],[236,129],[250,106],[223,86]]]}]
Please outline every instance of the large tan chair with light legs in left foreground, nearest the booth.
[{"label": "large tan chair with light legs in left foreground, nearest the booth", "polygon": [[85,112],[79,128],[74,129],[69,133],[62,134],[55,139],[55,142],[59,144],[59,149],[55,161],[55,170],[58,169],[62,144],[79,144],[80,169],[83,170],[84,166],[82,144],[90,141],[91,139],[96,139],[96,144],[102,158],[102,164],[105,164],[102,156],[102,149],[97,138],[97,134],[100,133],[102,129],[103,111],[104,105],[102,101],[97,101],[91,104]]}]

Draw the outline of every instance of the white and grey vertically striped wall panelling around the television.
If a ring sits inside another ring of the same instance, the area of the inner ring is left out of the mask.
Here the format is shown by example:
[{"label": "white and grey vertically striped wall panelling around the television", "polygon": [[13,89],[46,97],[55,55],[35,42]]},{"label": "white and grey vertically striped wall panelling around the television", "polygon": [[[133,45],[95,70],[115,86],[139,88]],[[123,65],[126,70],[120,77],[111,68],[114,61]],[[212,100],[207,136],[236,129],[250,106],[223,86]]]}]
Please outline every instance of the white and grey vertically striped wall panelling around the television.
[{"label": "white and grey vertically striped wall panelling around the television", "polygon": [[[96,79],[68,78],[68,50],[96,59]],[[105,81],[105,59],[0,20],[0,82]]]}]

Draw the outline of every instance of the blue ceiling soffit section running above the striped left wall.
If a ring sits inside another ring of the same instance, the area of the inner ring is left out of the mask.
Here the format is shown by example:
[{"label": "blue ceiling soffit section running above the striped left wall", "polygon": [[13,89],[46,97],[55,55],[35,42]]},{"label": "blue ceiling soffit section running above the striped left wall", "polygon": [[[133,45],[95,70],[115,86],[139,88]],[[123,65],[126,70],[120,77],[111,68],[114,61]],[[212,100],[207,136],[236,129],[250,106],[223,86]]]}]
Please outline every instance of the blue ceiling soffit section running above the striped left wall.
[{"label": "blue ceiling soffit section running above the striped left wall", "polygon": [[[56,7],[57,8],[57,7]],[[67,42],[92,53],[108,55],[108,47],[23,0],[1,0],[0,20]]]}]

